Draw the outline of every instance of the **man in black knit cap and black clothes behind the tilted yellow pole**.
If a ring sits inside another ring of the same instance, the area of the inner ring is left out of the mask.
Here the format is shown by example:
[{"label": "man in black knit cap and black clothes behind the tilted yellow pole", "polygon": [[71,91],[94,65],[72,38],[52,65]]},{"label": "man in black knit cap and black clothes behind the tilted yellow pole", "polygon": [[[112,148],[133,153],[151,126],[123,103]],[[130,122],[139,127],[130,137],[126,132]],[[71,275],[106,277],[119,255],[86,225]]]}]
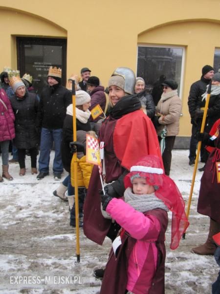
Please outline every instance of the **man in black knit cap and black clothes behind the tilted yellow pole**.
[{"label": "man in black knit cap and black clothes behind the tilted yellow pole", "polygon": [[[200,80],[196,81],[191,85],[189,98],[188,98],[188,107],[189,107],[189,113],[191,117],[191,123],[192,123],[192,136],[190,140],[190,154],[189,154],[189,165],[194,166],[195,165],[195,159],[196,159],[196,149],[198,140],[195,138],[196,133],[200,130],[200,123],[201,119],[197,117],[196,110],[199,107],[201,96],[206,91],[206,86],[210,83],[211,78],[214,75],[214,69],[210,65],[205,65],[202,68],[202,76]],[[201,146],[201,153],[200,158],[201,162],[205,162],[205,159],[203,158],[204,154],[204,147]]]}]

